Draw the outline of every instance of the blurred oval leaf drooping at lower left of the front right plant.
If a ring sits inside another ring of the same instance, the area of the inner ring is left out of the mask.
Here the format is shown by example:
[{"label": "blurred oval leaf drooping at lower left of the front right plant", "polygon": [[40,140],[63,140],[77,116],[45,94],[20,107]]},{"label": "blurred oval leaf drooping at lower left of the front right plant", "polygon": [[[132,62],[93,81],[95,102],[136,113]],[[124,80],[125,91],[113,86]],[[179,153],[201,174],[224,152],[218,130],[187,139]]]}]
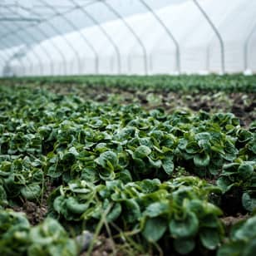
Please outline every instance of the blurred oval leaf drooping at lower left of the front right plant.
[{"label": "blurred oval leaf drooping at lower left of the front right plant", "polygon": [[148,241],[156,242],[165,234],[166,229],[167,221],[165,219],[160,217],[146,219],[142,235]]}]

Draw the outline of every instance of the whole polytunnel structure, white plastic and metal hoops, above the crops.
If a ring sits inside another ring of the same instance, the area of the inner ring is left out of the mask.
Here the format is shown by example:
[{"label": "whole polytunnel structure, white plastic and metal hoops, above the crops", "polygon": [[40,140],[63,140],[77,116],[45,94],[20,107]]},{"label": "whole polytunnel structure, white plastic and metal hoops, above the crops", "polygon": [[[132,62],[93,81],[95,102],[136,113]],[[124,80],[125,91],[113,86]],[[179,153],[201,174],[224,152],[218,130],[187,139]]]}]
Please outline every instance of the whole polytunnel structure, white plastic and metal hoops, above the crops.
[{"label": "whole polytunnel structure, white plastic and metal hoops, above the crops", "polygon": [[2,76],[254,72],[256,2],[0,5]]}]

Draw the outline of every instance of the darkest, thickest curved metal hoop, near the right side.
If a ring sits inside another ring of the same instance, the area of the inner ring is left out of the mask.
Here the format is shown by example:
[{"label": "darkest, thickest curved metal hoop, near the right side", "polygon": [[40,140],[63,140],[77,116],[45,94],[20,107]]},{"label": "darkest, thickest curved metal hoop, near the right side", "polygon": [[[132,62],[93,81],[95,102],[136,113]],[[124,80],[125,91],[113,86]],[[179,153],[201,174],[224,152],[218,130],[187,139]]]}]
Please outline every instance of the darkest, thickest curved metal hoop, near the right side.
[{"label": "darkest, thickest curved metal hoop, near the right side", "polygon": [[203,14],[204,18],[209,23],[209,26],[212,27],[215,35],[219,39],[219,46],[220,46],[220,53],[221,53],[221,57],[220,57],[221,58],[221,72],[224,74],[224,72],[225,72],[224,40],[221,37],[217,27],[215,27],[214,23],[211,21],[211,19],[207,15],[207,13],[204,12],[204,9],[199,5],[199,2],[197,2],[197,0],[193,0],[193,2],[195,4],[195,6],[199,8],[199,11]]}]

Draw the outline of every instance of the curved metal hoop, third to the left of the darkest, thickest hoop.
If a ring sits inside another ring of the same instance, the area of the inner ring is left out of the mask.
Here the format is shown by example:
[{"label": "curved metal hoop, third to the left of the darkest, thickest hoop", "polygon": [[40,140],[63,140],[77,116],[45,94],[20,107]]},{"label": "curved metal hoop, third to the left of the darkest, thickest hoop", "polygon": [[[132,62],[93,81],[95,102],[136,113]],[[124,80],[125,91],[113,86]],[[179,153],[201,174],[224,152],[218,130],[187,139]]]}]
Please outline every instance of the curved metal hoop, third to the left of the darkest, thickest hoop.
[{"label": "curved metal hoop, third to the left of the darkest, thickest hoop", "polygon": [[[113,41],[111,38],[110,34],[106,31],[104,27],[101,26],[101,23],[96,20],[95,17],[93,17],[89,12],[86,11],[84,7],[81,5],[77,4],[75,0],[71,0],[77,8],[81,12],[83,12],[94,24],[96,24],[97,27],[101,30],[101,32],[105,35],[106,39],[111,43],[112,47],[114,48],[116,52],[116,57],[117,57],[117,72],[120,74],[121,73],[121,52],[119,51],[119,47],[116,45],[116,42]],[[94,2],[93,2],[94,3]]]}]

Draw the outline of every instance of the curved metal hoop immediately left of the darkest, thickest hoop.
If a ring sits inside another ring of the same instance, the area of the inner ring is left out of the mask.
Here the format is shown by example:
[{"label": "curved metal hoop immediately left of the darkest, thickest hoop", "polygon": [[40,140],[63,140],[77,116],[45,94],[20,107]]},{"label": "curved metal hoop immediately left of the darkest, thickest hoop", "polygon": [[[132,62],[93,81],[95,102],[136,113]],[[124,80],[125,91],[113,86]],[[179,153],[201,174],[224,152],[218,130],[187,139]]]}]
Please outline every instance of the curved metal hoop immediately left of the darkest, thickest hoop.
[{"label": "curved metal hoop immediately left of the darkest, thickest hoop", "polygon": [[140,2],[144,5],[145,8],[147,8],[151,14],[155,17],[156,21],[160,23],[160,25],[164,28],[165,32],[169,36],[170,40],[174,42],[175,48],[176,48],[176,70],[180,74],[180,46],[177,39],[174,37],[173,33],[170,31],[169,27],[165,25],[165,22],[159,17],[157,12],[155,12],[144,0],[140,0]]}]

